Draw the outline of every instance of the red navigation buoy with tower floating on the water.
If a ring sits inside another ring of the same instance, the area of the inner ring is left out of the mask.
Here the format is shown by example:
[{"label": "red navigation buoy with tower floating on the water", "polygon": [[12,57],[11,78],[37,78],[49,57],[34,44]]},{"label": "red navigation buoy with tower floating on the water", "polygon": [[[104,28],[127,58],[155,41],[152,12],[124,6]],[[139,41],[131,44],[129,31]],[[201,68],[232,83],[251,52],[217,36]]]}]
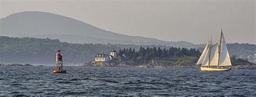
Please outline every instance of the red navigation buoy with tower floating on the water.
[{"label": "red navigation buoy with tower floating on the water", "polygon": [[63,53],[58,50],[56,52],[56,70],[53,70],[52,73],[66,73],[65,70],[63,70]]}]

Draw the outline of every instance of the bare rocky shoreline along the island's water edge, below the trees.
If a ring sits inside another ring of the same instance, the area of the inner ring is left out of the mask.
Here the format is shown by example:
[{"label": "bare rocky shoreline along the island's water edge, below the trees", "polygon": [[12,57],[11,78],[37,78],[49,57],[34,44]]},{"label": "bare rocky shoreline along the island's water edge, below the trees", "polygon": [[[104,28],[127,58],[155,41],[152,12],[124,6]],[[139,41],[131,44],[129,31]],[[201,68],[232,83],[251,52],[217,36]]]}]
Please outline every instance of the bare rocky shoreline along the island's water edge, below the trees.
[{"label": "bare rocky shoreline along the island's water edge, below the trees", "polygon": [[[149,64],[138,64],[132,61],[90,61],[89,63],[85,63],[83,66],[89,67],[153,67],[153,68],[200,68],[199,66],[194,65],[181,65],[181,64],[157,64],[157,63],[149,63]],[[256,65],[237,65],[232,66],[233,69],[244,69],[244,70],[256,70]]]}]

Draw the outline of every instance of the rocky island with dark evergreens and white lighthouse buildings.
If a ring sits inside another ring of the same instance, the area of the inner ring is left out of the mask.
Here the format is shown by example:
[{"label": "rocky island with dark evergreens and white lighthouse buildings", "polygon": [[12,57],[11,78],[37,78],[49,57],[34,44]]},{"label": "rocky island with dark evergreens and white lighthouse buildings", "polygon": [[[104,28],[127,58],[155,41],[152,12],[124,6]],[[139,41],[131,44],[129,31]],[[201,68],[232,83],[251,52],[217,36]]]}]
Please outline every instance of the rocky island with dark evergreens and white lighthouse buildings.
[{"label": "rocky island with dark evergreens and white lighthouse buildings", "polygon": [[[116,51],[113,49],[112,52]],[[113,58],[112,52],[110,56],[104,53],[96,54],[96,60],[85,63],[84,66],[199,68],[196,63],[201,54],[196,49],[187,49],[186,47],[170,47],[169,49],[161,49],[160,47],[146,47],[145,49],[140,47],[138,51],[130,47],[116,52],[116,58]],[[105,58],[109,58],[109,60]],[[237,59],[232,56],[231,61],[232,68],[256,68],[256,65],[250,63],[247,59]]]}]

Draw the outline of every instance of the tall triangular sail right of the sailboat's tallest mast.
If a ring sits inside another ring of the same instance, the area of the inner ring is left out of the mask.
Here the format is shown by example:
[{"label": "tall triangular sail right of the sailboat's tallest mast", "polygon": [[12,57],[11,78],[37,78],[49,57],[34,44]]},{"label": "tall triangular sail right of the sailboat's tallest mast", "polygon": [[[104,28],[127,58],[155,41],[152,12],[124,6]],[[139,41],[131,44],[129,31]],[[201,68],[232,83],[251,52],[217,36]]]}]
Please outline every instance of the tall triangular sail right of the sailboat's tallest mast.
[{"label": "tall triangular sail right of the sailboat's tallest mast", "polygon": [[231,66],[230,54],[227,51],[227,45],[223,33],[221,33],[219,66]]}]

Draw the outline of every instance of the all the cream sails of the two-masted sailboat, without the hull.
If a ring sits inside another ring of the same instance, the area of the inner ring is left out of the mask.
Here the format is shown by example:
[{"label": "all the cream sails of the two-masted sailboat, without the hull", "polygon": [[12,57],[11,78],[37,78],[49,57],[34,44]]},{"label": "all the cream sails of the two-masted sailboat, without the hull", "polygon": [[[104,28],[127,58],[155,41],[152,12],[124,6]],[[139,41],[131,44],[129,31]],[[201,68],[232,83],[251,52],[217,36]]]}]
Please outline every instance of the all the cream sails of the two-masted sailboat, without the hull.
[{"label": "all the cream sails of the two-masted sailboat, without the hull", "polygon": [[220,42],[212,45],[211,40],[206,44],[197,65],[205,66],[231,66],[230,55],[227,51],[226,41],[221,30]]}]

